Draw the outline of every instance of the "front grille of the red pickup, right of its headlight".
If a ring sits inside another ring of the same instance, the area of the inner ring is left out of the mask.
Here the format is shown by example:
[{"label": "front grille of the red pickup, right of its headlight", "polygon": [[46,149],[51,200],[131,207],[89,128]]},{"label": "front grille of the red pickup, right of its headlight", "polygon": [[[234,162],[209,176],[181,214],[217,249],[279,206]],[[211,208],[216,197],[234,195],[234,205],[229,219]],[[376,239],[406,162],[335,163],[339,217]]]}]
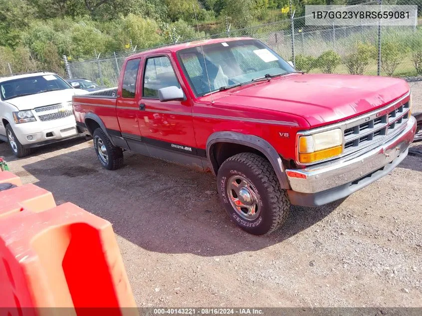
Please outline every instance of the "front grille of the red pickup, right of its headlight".
[{"label": "front grille of the red pickup, right of its headlight", "polygon": [[[380,110],[379,113],[381,112]],[[379,115],[379,113],[375,115]],[[347,124],[344,131],[345,149],[343,154],[371,145],[405,124],[409,119],[409,102],[383,116],[374,117],[375,115],[368,117],[365,122],[360,119],[356,123]]]}]

